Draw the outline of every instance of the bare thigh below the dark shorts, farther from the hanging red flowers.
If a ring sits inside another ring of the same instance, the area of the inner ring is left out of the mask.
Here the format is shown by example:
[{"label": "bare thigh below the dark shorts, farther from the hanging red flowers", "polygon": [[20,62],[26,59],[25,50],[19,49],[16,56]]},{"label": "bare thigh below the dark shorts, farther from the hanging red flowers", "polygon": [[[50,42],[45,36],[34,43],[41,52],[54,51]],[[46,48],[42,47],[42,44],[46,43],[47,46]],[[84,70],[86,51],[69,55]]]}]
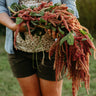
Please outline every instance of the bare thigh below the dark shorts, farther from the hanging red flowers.
[{"label": "bare thigh below the dark shorts, farther from the hanging red flowers", "polygon": [[41,96],[39,79],[36,74],[25,77],[17,78],[24,96]]}]

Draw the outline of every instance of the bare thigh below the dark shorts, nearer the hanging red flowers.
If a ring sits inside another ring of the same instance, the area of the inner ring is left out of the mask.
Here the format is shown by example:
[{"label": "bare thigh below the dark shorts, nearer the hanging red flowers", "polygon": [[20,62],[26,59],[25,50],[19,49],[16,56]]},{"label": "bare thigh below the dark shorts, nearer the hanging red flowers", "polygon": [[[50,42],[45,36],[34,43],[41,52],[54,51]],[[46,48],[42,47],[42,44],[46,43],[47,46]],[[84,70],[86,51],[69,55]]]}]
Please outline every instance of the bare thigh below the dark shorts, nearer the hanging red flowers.
[{"label": "bare thigh below the dark shorts, nearer the hanging red flowers", "polygon": [[61,96],[63,80],[48,81],[40,78],[42,96]]}]

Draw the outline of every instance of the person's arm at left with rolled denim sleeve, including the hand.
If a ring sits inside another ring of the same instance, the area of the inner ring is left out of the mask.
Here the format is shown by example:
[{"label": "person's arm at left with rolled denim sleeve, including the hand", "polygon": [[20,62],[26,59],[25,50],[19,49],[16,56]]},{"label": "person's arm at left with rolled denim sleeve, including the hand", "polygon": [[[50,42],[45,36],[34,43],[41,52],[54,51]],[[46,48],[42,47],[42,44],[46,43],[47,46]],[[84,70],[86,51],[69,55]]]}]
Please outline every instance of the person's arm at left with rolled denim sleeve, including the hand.
[{"label": "person's arm at left with rolled denim sleeve, including the hand", "polygon": [[[6,8],[5,0],[0,0],[0,23],[12,31],[15,31],[17,26],[15,22],[13,22],[9,15],[8,15],[8,9]],[[20,27],[20,32],[24,32],[25,27],[24,24]]]}]

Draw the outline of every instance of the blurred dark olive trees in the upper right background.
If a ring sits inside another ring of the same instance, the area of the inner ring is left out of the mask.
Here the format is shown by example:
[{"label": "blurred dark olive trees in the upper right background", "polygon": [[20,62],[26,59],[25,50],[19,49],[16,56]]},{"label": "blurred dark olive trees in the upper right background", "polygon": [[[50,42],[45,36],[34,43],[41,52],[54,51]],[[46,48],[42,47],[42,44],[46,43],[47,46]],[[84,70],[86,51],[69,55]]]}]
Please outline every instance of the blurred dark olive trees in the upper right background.
[{"label": "blurred dark olive trees in the upper right background", "polygon": [[80,23],[96,38],[96,0],[77,0]]}]

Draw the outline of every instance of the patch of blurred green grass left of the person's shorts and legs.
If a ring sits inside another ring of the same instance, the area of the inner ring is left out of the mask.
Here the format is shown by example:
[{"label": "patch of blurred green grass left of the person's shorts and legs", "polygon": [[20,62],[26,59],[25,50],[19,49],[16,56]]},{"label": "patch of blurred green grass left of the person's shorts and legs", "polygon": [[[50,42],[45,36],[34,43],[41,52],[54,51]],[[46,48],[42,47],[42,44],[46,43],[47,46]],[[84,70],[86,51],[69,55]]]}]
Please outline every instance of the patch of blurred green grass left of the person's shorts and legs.
[{"label": "patch of blurred green grass left of the person's shorts and legs", "polygon": [[0,36],[0,96],[21,96],[16,78],[13,78],[4,50],[4,36]]}]

